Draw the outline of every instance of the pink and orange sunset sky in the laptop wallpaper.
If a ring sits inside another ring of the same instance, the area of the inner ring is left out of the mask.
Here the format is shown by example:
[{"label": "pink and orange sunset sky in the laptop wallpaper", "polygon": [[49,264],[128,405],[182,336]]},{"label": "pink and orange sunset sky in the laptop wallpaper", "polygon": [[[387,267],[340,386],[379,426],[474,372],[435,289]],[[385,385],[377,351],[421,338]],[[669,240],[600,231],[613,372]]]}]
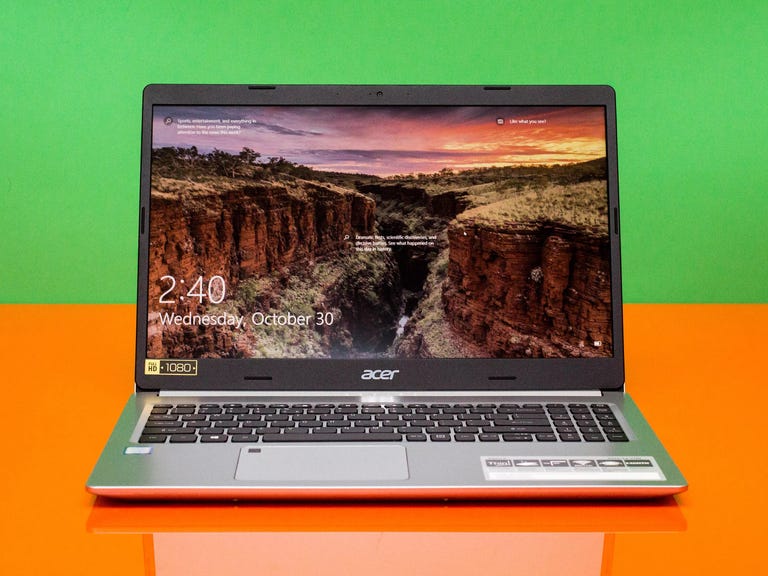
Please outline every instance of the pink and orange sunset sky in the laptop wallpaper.
[{"label": "pink and orange sunset sky in the laptop wallpaper", "polygon": [[[226,126],[228,134],[211,133]],[[248,147],[265,160],[378,176],[566,164],[606,153],[601,107],[158,106],[153,132],[154,148],[236,154]]]}]

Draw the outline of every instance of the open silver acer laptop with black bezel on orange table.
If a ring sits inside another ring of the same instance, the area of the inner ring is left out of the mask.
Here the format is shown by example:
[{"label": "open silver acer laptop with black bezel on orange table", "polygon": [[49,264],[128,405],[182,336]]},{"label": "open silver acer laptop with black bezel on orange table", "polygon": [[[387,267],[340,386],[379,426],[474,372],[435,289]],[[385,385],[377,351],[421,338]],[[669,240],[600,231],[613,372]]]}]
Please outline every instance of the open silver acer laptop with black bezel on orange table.
[{"label": "open silver acer laptop with black bezel on orange table", "polygon": [[608,86],[147,86],[135,390],[87,489],[681,492],[619,239]]}]

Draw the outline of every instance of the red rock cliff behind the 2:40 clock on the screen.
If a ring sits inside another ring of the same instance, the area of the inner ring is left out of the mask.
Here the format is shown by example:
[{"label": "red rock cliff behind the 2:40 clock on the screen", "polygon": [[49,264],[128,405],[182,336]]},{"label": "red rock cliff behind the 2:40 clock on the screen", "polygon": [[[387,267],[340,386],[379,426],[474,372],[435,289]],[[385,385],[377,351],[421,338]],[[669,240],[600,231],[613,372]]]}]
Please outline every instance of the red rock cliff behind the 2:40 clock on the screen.
[{"label": "red rock cliff behind the 2:40 clock on the screen", "polygon": [[[166,178],[153,184],[150,355],[172,351],[168,344],[182,336],[166,328],[168,342],[163,343],[156,318],[153,321],[152,313],[161,309],[158,301],[168,288],[161,277],[183,279],[189,286],[200,275],[218,275],[231,294],[240,280],[329,254],[346,245],[345,235],[374,230],[374,201],[330,184],[221,179],[213,185]],[[186,299],[174,311],[194,313],[200,308],[197,300]],[[219,349],[226,346],[216,344]]]}]

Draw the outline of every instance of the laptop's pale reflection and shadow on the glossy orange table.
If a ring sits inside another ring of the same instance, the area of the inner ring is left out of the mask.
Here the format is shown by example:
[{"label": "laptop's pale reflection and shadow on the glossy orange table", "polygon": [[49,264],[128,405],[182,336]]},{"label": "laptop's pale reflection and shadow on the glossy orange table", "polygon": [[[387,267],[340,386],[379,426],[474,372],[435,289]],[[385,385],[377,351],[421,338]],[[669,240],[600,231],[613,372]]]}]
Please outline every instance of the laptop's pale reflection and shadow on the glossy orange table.
[{"label": "laptop's pale reflection and shadow on the glossy orange table", "polygon": [[145,573],[611,573],[614,536],[679,532],[674,498],[642,503],[124,503],[87,529],[144,535]]}]

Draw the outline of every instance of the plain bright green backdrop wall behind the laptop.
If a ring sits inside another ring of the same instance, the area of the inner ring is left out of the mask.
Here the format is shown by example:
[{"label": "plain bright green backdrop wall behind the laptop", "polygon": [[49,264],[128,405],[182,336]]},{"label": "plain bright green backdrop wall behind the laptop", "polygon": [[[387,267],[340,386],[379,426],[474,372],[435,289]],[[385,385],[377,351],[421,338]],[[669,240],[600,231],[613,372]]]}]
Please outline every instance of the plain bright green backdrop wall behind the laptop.
[{"label": "plain bright green backdrop wall behind the laptop", "polygon": [[768,301],[768,2],[0,0],[0,302],[133,302],[148,83],[611,84],[628,302]]}]

